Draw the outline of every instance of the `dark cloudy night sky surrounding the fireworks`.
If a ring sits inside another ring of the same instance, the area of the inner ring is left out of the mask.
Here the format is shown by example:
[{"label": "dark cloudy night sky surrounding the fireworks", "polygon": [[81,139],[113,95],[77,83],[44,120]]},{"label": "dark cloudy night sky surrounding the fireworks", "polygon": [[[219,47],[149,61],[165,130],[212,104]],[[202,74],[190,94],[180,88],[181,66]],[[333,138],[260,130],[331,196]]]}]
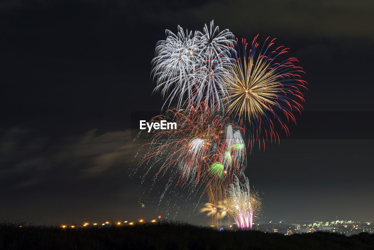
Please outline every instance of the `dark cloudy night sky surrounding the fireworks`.
[{"label": "dark cloudy night sky surrounding the fireworks", "polygon": [[[374,221],[372,1],[103,2],[0,3],[1,220],[165,217],[128,178],[131,112],[162,107],[150,61],[165,29],[214,19],[239,39],[276,37],[307,73],[291,135],[248,156],[264,221]],[[206,223],[180,207],[176,219]]]}]

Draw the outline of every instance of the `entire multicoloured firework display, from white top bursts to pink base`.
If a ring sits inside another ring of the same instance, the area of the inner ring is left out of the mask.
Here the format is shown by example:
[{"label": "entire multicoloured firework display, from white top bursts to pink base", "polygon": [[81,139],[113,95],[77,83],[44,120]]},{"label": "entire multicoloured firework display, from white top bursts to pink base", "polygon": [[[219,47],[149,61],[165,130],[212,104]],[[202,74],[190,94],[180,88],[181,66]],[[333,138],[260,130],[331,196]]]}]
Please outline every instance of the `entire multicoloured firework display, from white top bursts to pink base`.
[{"label": "entire multicoloured firework display, from white top bursts to pink base", "polygon": [[177,126],[148,130],[134,172],[143,169],[142,180],[151,177],[152,187],[166,180],[160,202],[173,190],[199,202],[206,195],[199,212],[211,217],[215,228],[227,220],[251,229],[260,219],[260,194],[244,175],[246,151],[251,153],[255,142],[260,148],[265,141],[279,141],[275,123],[289,134],[281,116],[295,122],[292,112],[301,112],[307,84],[298,60],[281,59],[288,48],[274,42],[268,37],[260,46],[256,36],[247,46],[212,21],[189,33],[178,25],[176,34],[166,30],[166,40],[156,44],[154,92],[161,93],[168,110],[151,122]]}]

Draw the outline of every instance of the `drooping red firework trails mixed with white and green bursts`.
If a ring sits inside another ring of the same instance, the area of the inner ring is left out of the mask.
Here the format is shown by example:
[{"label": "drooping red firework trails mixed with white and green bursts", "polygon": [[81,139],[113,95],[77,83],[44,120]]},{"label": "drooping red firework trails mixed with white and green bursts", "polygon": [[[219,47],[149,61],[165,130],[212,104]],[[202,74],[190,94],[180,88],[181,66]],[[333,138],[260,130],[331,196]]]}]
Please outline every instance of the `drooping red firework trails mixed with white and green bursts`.
[{"label": "drooping red firework trails mixed with white and green bursts", "polygon": [[178,186],[196,195],[197,190],[205,192],[208,186],[227,186],[234,176],[243,174],[246,150],[240,127],[229,117],[212,116],[208,105],[201,103],[169,109],[152,120],[166,119],[177,123],[177,129],[149,133],[150,142],[141,147],[145,156],[137,166],[145,169],[143,179],[153,173],[156,184],[166,175],[169,182],[165,191]]}]

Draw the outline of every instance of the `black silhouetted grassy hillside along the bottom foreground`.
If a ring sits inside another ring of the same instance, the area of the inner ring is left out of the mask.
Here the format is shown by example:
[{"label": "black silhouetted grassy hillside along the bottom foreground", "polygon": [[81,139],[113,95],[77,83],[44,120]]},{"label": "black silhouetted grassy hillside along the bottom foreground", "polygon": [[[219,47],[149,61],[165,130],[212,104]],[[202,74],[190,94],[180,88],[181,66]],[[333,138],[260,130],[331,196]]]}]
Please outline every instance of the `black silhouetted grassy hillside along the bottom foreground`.
[{"label": "black silhouetted grassy hillside along the bottom foreground", "polygon": [[374,249],[374,235],[217,232],[185,223],[66,229],[7,224],[0,225],[0,249]]}]

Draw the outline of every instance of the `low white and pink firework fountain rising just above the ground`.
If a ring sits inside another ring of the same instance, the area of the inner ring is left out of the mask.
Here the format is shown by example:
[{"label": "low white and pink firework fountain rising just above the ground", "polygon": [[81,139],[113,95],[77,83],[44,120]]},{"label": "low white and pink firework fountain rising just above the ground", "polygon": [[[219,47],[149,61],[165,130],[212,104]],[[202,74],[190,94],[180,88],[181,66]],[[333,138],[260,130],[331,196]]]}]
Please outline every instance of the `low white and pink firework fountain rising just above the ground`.
[{"label": "low white and pink firework fountain rising just above the ground", "polygon": [[233,215],[238,228],[252,228],[254,217],[261,213],[261,198],[258,192],[251,192],[248,178],[240,183],[234,177],[232,184],[227,189],[227,211]]}]

